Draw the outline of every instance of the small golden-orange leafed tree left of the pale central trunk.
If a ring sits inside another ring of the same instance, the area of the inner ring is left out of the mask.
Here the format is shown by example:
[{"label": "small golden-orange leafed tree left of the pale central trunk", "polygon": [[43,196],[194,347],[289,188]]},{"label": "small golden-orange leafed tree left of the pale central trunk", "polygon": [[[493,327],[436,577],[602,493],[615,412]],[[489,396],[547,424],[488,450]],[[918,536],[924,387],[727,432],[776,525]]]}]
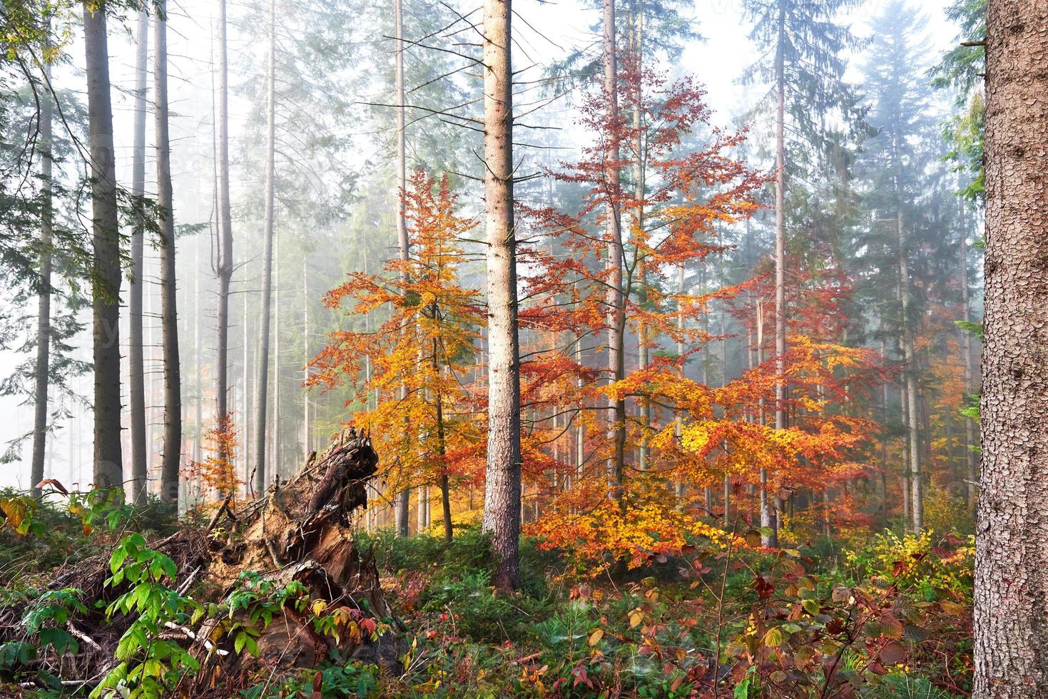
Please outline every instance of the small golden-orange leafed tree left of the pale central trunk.
[{"label": "small golden-orange leafed tree left of the pale central trunk", "polygon": [[475,223],[457,215],[446,177],[438,182],[416,172],[402,196],[411,258],[390,261],[386,275],[352,274],[324,299],[351,316],[384,307],[391,309],[389,316],[371,332],[332,332],[311,363],[309,384],[349,383],[377,397],[351,423],[374,429],[391,492],[439,485],[444,533],[451,538],[451,481],[474,473],[484,459],[484,400],[470,388],[470,378],[485,314],[479,291],[460,281],[465,260],[460,239]]}]

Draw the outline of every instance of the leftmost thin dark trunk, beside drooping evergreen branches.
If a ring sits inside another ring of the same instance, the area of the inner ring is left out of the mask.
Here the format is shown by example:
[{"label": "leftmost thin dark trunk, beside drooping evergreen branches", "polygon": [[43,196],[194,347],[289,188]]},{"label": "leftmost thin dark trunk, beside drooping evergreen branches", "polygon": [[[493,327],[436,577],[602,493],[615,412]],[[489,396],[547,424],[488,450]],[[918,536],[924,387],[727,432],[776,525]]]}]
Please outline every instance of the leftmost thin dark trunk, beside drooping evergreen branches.
[{"label": "leftmost thin dark trunk, beside drooping evergreen branches", "polygon": [[[48,66],[47,80],[51,70]],[[43,188],[43,207],[40,215],[40,296],[37,298],[37,365],[34,367],[32,464],[29,469],[29,487],[39,498],[38,487],[44,480],[44,458],[47,450],[47,393],[51,363],[51,122],[54,108],[51,95],[45,94],[40,105],[40,179]]]}]

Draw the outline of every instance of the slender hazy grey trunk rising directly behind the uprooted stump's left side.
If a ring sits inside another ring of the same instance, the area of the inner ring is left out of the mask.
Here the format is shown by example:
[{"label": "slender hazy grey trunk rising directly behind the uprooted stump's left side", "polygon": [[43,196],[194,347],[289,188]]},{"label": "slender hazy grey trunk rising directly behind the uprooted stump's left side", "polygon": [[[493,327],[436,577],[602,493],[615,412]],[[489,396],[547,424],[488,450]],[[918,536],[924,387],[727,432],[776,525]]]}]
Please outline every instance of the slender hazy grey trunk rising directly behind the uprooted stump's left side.
[{"label": "slender hazy grey trunk rising directly behind the uprooted stump's left side", "polygon": [[255,387],[255,493],[265,492],[266,406],[269,398],[269,309],[272,305],[272,232],[276,219],[277,3],[269,2],[269,58],[266,68],[265,219],[262,236],[262,308],[259,323],[258,384]]}]

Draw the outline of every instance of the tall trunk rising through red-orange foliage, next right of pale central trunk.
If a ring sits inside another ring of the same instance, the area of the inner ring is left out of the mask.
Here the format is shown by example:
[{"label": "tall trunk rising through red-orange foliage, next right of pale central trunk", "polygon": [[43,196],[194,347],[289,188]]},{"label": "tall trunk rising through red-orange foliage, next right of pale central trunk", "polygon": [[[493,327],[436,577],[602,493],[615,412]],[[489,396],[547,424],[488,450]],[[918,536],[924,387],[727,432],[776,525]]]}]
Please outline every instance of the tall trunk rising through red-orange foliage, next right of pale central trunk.
[{"label": "tall trunk rising through red-orange foliage, next right of pale central trunk", "polygon": [[[604,0],[604,104],[609,125],[618,119],[617,68],[615,57],[615,0]],[[608,196],[608,211],[605,221],[605,236],[608,239],[608,380],[621,380],[626,375],[625,329],[626,309],[623,294],[623,227],[618,211],[618,134],[606,134],[608,149],[606,157],[611,163],[605,174]],[[612,499],[621,497],[623,476],[626,472],[626,400],[608,399],[608,438],[613,451],[608,460],[608,490]]]}]

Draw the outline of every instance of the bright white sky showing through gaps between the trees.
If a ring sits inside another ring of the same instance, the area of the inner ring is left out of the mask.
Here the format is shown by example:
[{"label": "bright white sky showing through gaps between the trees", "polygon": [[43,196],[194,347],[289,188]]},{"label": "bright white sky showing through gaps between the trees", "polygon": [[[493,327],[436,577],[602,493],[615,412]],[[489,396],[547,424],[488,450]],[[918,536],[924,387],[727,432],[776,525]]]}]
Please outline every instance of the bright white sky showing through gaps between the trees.
[{"label": "bright white sky showing through gaps between the trees", "polygon": [[[406,0],[406,6],[419,0]],[[927,45],[933,56],[952,47],[956,41],[957,28],[946,20],[944,9],[948,0],[912,0],[919,4],[927,19]],[[855,34],[865,36],[867,24],[875,17],[889,0],[867,0],[854,8],[846,17],[852,24]],[[705,41],[687,46],[672,71],[690,73],[704,83],[708,90],[708,103],[715,110],[714,121],[719,124],[728,123],[738,113],[744,111],[747,91],[737,84],[742,70],[754,62],[756,49],[749,42],[747,34],[749,26],[742,9],[742,0],[696,0],[695,17],[699,21],[699,30]],[[468,12],[473,5],[459,2],[460,12]],[[464,8],[464,9],[463,9]],[[597,21],[595,9],[585,6],[574,0],[558,0],[555,2],[537,2],[536,0],[518,0],[515,10],[519,13],[526,24],[518,22],[518,49],[515,54],[515,67],[520,68],[530,62],[543,63],[553,60],[561,49],[569,46],[586,45],[595,40],[592,31]],[[210,141],[210,125],[206,133],[200,130],[199,114],[193,115],[192,105],[201,102],[210,103],[212,90],[209,66],[211,63],[211,26],[216,14],[214,2],[202,0],[171,1],[169,17],[169,41],[171,44],[171,105],[172,105],[172,139],[177,149],[179,141],[185,138],[206,138]],[[133,84],[133,47],[131,32],[110,25],[111,72],[114,86],[113,112],[114,132],[118,152],[117,177],[127,181],[130,168],[130,134],[131,108],[130,95],[126,90]],[[236,50],[236,42],[231,43],[231,50]],[[82,46],[71,48],[79,58]],[[861,63],[861,54],[852,57],[852,64]],[[82,60],[80,61],[82,62]],[[231,63],[233,58],[231,57]],[[852,80],[856,74],[850,74]],[[70,74],[65,77],[68,85],[82,78]],[[752,94],[754,90],[749,91]],[[238,104],[236,100],[231,105],[231,131],[236,135],[238,122],[245,115],[247,106]],[[549,108],[550,117],[560,119],[563,112],[570,118],[568,105],[553,105]],[[178,211],[179,200],[193,198],[189,188],[200,182],[208,184],[211,179],[211,162],[191,163],[202,172],[176,173],[175,205],[176,220],[187,220]],[[151,165],[147,171],[151,170]],[[209,184],[210,185],[210,184]],[[200,199],[199,196],[196,197]],[[184,212],[183,212],[184,214]],[[194,212],[196,216],[206,216],[206,212]],[[204,219],[205,220],[205,219]],[[147,321],[148,323],[148,321]],[[88,341],[89,342],[89,341]],[[183,352],[184,352],[183,345]],[[0,352],[0,374],[6,374],[21,361],[12,352]],[[91,378],[84,377],[81,390],[85,395],[90,393]],[[31,406],[20,405],[14,397],[0,397],[0,445],[8,440],[25,434],[32,425]],[[70,436],[79,438],[70,440]],[[65,424],[56,433],[49,443],[50,458],[48,473],[63,480],[67,485],[74,484],[81,478],[90,478],[90,413],[83,407],[77,409],[77,418],[71,424]],[[74,451],[74,441],[83,442],[81,450]],[[27,459],[29,444],[22,450]],[[0,464],[0,486],[28,487],[27,461]]]}]

